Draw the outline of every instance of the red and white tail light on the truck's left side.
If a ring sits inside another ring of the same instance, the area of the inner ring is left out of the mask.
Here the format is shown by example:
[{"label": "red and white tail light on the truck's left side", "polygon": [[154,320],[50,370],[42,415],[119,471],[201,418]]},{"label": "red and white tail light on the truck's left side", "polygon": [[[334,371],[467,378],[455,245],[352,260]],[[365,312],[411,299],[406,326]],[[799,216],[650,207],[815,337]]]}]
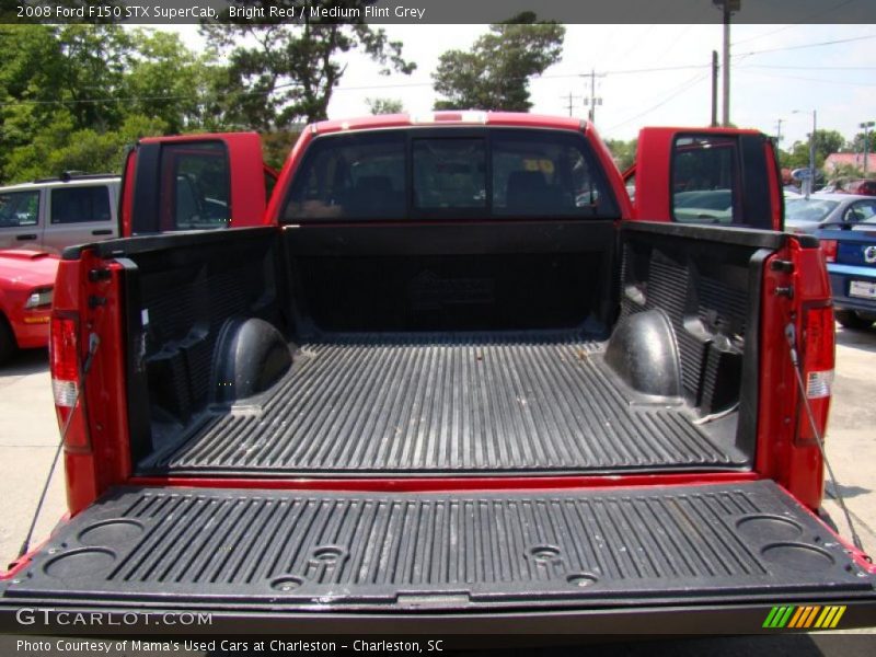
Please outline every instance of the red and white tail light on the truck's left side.
[{"label": "red and white tail light on the truck's left side", "polygon": [[[79,321],[76,316],[54,314],[49,327],[49,364],[55,411],[61,428],[67,425],[77,406],[82,405],[79,395]],[[89,449],[88,431],[82,413],[70,420],[65,437],[65,447]]]}]

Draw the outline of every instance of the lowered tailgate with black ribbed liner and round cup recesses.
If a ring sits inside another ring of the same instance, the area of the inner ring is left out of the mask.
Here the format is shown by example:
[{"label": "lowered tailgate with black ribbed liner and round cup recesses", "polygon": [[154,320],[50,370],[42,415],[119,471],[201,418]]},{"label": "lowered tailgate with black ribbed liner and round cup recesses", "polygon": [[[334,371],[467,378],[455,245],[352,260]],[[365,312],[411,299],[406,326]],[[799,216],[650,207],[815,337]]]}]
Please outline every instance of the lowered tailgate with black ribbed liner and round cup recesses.
[{"label": "lowered tailgate with black ribbed liner and round cup recesses", "polygon": [[117,488],[5,601],[470,609],[873,596],[772,482],[579,492]]}]

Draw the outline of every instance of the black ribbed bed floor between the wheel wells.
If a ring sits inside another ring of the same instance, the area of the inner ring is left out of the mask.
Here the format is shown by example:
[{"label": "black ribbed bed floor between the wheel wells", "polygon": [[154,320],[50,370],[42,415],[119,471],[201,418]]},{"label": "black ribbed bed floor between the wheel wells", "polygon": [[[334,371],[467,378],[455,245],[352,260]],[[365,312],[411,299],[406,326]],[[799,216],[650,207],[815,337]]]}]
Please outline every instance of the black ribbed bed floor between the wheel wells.
[{"label": "black ribbed bed floor between the wheel wells", "polygon": [[420,336],[302,346],[257,403],[139,472],[477,474],[737,469],[681,400],[635,402],[579,339]]}]

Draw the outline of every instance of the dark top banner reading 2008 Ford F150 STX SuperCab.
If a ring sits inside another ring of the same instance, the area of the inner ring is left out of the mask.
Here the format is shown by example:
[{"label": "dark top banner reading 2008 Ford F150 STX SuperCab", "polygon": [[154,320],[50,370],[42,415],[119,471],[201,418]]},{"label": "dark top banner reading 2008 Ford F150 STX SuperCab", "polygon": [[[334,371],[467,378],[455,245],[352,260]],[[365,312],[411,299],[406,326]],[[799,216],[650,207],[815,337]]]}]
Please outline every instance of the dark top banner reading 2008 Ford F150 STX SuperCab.
[{"label": "dark top banner reading 2008 Ford F150 STX SuperCab", "polygon": [[[726,7],[725,7],[726,5]],[[876,0],[0,0],[0,23],[876,23]]]}]

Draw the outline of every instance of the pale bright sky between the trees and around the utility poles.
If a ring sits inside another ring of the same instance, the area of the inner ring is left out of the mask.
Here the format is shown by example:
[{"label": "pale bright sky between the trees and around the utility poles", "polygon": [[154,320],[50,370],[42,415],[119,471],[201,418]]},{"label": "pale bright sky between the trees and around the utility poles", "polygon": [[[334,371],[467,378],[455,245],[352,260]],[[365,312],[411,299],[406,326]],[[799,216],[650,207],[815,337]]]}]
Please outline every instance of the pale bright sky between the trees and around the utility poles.
[{"label": "pale bright sky between the trees and around the utility poles", "polygon": [[[413,76],[383,77],[367,58],[348,58],[330,105],[332,118],[367,113],[367,97],[401,100],[406,111],[431,108],[430,73],[439,55],[468,48],[485,25],[387,25],[417,62]],[[198,47],[194,28],[180,28]],[[631,139],[646,125],[705,125],[711,117],[712,50],[721,53],[722,25],[568,25],[563,60],[531,83],[533,111],[585,115],[589,73],[597,79],[597,128]],[[876,25],[733,25],[730,119],[771,135],[782,119],[782,145],[806,139],[811,111],[818,128],[851,138],[876,120]],[[825,42],[843,42],[816,46]],[[683,67],[683,68],[682,68]],[[692,67],[692,68],[688,68]],[[669,69],[649,70],[642,69]],[[799,111],[798,113],[794,113]]]}]

